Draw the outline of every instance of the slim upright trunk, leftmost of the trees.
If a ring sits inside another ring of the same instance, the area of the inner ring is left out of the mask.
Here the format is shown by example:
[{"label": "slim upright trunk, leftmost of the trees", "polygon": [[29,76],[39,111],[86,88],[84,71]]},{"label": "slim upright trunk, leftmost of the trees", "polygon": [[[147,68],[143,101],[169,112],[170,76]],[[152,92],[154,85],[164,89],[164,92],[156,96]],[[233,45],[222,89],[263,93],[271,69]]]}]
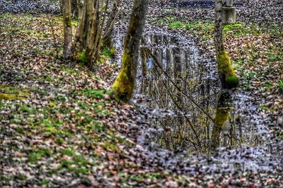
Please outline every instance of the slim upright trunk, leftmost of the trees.
[{"label": "slim upright trunk, leftmost of the trees", "polygon": [[72,52],[70,0],[62,0],[62,11],[63,11],[63,28],[64,28],[63,56],[65,60],[69,60],[71,58],[71,52]]}]

